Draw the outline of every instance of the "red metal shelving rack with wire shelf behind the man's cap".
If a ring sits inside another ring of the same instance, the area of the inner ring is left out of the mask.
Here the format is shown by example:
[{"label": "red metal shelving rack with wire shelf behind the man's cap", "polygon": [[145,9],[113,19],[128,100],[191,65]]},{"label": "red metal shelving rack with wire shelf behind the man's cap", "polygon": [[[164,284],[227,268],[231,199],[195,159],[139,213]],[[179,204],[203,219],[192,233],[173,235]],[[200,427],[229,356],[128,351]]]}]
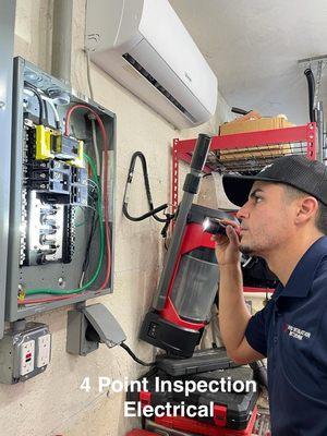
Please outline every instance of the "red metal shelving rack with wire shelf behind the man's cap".
[{"label": "red metal shelving rack with wire shelf behind the man's cap", "polygon": [[[214,136],[204,171],[246,172],[258,171],[281,155],[303,155],[316,158],[316,124]],[[173,211],[179,201],[179,164],[191,162],[196,140],[173,140],[172,145],[172,196]],[[229,150],[231,158],[221,159],[221,150]],[[238,158],[239,154],[239,158]],[[246,154],[246,158],[242,157]],[[266,288],[244,288],[244,292],[271,292]]]}]

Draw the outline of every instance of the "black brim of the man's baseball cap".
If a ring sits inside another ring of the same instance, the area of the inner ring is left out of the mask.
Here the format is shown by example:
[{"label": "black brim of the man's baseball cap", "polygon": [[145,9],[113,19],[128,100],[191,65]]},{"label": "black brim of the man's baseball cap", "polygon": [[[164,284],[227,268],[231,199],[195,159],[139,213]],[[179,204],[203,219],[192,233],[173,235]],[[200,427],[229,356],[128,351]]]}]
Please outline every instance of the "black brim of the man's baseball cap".
[{"label": "black brim of the man's baseball cap", "polygon": [[264,182],[277,182],[277,180],[258,175],[222,175],[222,186],[228,199],[237,206],[243,206],[249,198],[250,191],[256,180]]}]

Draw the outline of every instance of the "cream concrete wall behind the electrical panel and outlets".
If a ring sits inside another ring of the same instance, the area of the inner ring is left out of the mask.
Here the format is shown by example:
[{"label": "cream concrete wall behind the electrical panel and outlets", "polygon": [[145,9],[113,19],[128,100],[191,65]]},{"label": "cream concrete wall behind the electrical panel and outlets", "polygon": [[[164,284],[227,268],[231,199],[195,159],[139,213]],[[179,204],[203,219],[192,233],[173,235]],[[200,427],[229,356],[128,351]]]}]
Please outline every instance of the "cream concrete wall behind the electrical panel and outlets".
[{"label": "cream concrete wall behind the electrical panel and outlets", "polygon": [[[50,71],[53,0],[17,0],[15,55]],[[83,49],[84,0],[74,1],[72,85],[88,94]],[[153,347],[137,339],[144,313],[149,307],[162,263],[160,228],[155,220],[128,221],[121,214],[123,189],[132,154],[142,150],[148,161],[156,205],[170,199],[170,148],[173,137],[195,137],[197,131],[215,132],[228,118],[229,108],[219,96],[217,114],[207,125],[192,132],[177,131],[146,105],[92,65],[95,100],[117,113],[117,232],[114,293],[98,299],[119,319],[129,346],[143,360],[153,359]],[[131,211],[146,209],[146,198],[136,168]],[[133,426],[123,417],[124,396],[99,393],[98,376],[135,378],[144,368],[120,348],[100,350],[86,358],[65,352],[68,308],[35,317],[47,323],[53,335],[52,361],[46,373],[24,384],[0,386],[0,434],[3,436],[122,436]],[[80,389],[89,376],[92,390]]]}]

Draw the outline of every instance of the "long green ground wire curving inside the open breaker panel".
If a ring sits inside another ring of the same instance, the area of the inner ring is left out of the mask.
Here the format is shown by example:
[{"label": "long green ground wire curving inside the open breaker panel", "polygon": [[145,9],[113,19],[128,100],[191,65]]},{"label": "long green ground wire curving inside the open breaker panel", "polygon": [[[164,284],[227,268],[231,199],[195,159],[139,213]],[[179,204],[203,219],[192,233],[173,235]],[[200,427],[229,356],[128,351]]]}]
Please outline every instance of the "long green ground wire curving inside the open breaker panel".
[{"label": "long green ground wire curving inside the open breaker panel", "polygon": [[52,295],[69,295],[72,293],[80,293],[84,291],[85,289],[89,288],[98,278],[102,262],[104,262],[104,254],[105,254],[105,230],[104,230],[104,219],[102,219],[102,197],[101,197],[101,185],[99,182],[99,179],[97,177],[97,168],[96,164],[93,160],[92,157],[87,156],[84,153],[84,158],[87,160],[88,165],[92,168],[92,173],[93,173],[93,180],[96,183],[97,186],[97,192],[98,192],[98,199],[97,199],[97,211],[99,216],[99,233],[100,233],[100,246],[99,246],[99,258],[98,258],[98,265],[97,269],[95,270],[93,277],[89,279],[89,281],[83,287],[77,288],[77,289],[72,289],[68,291],[62,291],[62,290],[57,290],[57,289],[26,289],[25,294],[26,295],[35,295],[35,294],[40,294],[40,293],[46,293],[46,294],[52,294]]}]

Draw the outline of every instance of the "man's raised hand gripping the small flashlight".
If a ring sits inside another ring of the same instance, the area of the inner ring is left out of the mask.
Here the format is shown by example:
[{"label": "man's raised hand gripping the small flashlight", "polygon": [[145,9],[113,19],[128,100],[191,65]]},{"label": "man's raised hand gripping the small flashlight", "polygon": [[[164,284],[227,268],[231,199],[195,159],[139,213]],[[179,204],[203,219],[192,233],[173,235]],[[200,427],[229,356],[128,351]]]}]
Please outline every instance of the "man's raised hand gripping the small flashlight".
[{"label": "man's raised hand gripping the small flashlight", "polygon": [[216,241],[216,257],[219,267],[227,265],[240,265],[240,238],[237,230],[240,226],[229,219],[221,220],[227,226],[227,237],[221,234],[213,234],[211,241]]}]

